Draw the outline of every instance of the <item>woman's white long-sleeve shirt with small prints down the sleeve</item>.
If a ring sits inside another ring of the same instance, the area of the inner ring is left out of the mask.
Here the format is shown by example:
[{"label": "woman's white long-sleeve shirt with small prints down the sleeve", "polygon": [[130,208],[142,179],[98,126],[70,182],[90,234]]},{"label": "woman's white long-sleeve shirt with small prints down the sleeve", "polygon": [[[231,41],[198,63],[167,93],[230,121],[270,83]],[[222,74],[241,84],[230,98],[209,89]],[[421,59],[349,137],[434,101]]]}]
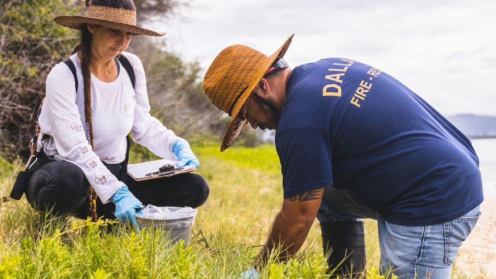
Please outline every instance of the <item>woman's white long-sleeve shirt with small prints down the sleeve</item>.
[{"label": "woman's white long-sleeve shirt with small prints down the sleeve", "polygon": [[[134,70],[134,90],[122,65],[119,76],[112,82],[103,82],[91,75],[94,150],[86,140],[84,85],[77,54],[70,56],[76,66],[77,93],[74,92],[74,76],[67,65],[63,62],[55,65],[47,77],[46,99],[39,117],[41,132],[37,150],[43,148],[47,155],[80,167],[104,204],[125,184],[102,162],[119,164],[124,161],[125,137],[129,132],[134,142],[155,155],[177,160],[171,148],[179,137],[150,115],[141,60],[131,53],[124,52],[123,55]],[[50,138],[42,142],[44,135]]]}]

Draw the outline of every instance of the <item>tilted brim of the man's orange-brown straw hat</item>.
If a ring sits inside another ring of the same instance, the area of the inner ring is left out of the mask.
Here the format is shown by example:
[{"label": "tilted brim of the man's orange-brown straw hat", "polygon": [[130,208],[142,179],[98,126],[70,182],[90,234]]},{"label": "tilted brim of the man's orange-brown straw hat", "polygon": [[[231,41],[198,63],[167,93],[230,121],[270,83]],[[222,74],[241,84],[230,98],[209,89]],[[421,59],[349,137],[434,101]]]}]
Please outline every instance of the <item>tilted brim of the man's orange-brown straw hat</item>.
[{"label": "tilted brim of the man's orange-brown straw hat", "polygon": [[238,119],[238,114],[241,111],[241,108],[243,108],[243,105],[245,105],[245,102],[248,100],[249,95],[255,89],[256,85],[260,82],[262,79],[263,75],[265,72],[269,69],[269,67],[274,63],[275,59],[279,57],[284,57],[286,54],[286,51],[289,48],[289,45],[291,44],[291,41],[293,40],[293,36],[295,34],[291,35],[284,44],[271,56],[268,56],[265,60],[263,60],[260,63],[260,66],[255,70],[255,73],[253,74],[251,80],[248,82],[248,87],[244,91],[244,93],[239,97],[238,101],[233,107],[233,111],[231,112],[231,121],[227,125],[226,132],[224,134],[224,137],[222,139],[222,144],[220,147],[220,151],[224,151],[228,149],[231,144],[236,140],[236,138],[239,136],[241,131],[246,127],[248,124],[247,119]]}]

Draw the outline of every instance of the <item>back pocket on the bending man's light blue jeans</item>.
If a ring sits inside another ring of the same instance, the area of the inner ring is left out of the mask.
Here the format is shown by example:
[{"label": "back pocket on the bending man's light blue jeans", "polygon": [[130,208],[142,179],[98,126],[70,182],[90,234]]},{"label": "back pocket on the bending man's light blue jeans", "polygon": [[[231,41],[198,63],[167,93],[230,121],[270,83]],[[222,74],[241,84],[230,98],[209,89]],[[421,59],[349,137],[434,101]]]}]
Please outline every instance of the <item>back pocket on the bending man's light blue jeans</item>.
[{"label": "back pocket on the bending man's light blue jeans", "polygon": [[[475,215],[475,216],[474,216]],[[444,223],[444,263],[452,265],[463,241],[474,229],[481,216],[479,206],[453,221]]]}]

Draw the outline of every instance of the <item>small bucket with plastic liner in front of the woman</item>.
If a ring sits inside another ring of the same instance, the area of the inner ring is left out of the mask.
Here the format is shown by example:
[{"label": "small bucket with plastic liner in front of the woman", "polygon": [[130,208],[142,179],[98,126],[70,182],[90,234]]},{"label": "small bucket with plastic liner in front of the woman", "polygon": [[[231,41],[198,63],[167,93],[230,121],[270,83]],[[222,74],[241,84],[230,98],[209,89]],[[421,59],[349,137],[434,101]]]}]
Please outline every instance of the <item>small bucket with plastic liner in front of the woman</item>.
[{"label": "small bucket with plastic liner in front of the woman", "polygon": [[166,230],[172,244],[181,239],[187,244],[191,240],[191,227],[196,213],[198,210],[190,207],[147,205],[136,213],[136,220],[141,227]]}]

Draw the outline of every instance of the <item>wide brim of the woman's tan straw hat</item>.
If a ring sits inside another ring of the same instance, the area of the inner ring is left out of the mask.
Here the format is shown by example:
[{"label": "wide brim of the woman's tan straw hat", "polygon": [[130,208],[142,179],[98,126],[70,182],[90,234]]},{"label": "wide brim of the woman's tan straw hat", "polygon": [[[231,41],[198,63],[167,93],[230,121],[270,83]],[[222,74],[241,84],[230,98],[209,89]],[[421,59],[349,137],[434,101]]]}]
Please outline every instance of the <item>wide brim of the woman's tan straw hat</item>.
[{"label": "wide brim of the woman's tan straw hat", "polygon": [[62,15],[55,17],[54,21],[62,26],[77,30],[81,30],[84,24],[90,23],[90,24],[102,25],[108,28],[114,28],[117,30],[128,31],[135,35],[148,35],[153,37],[161,37],[166,34],[166,33],[158,33],[149,29],[141,28],[130,24],[118,23],[118,22],[85,17],[85,16]]}]

